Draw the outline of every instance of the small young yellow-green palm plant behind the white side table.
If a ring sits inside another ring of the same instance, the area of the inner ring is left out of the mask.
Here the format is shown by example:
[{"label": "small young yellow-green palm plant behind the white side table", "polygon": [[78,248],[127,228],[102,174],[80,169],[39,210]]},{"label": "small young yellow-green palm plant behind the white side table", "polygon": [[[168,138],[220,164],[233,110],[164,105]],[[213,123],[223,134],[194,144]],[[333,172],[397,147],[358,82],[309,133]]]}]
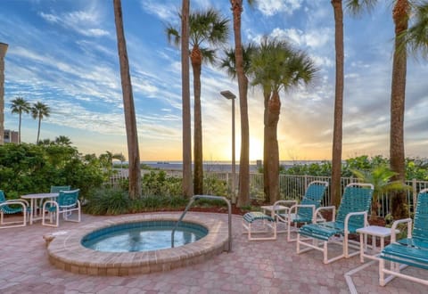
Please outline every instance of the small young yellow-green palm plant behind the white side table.
[{"label": "small young yellow-green palm plant behind the white side table", "polygon": [[374,192],[372,198],[372,218],[377,216],[377,210],[380,208],[379,197],[386,192],[397,192],[411,190],[410,186],[401,181],[391,181],[396,173],[391,171],[386,165],[379,165],[370,170],[352,169],[352,173],[363,183],[373,184]]}]

